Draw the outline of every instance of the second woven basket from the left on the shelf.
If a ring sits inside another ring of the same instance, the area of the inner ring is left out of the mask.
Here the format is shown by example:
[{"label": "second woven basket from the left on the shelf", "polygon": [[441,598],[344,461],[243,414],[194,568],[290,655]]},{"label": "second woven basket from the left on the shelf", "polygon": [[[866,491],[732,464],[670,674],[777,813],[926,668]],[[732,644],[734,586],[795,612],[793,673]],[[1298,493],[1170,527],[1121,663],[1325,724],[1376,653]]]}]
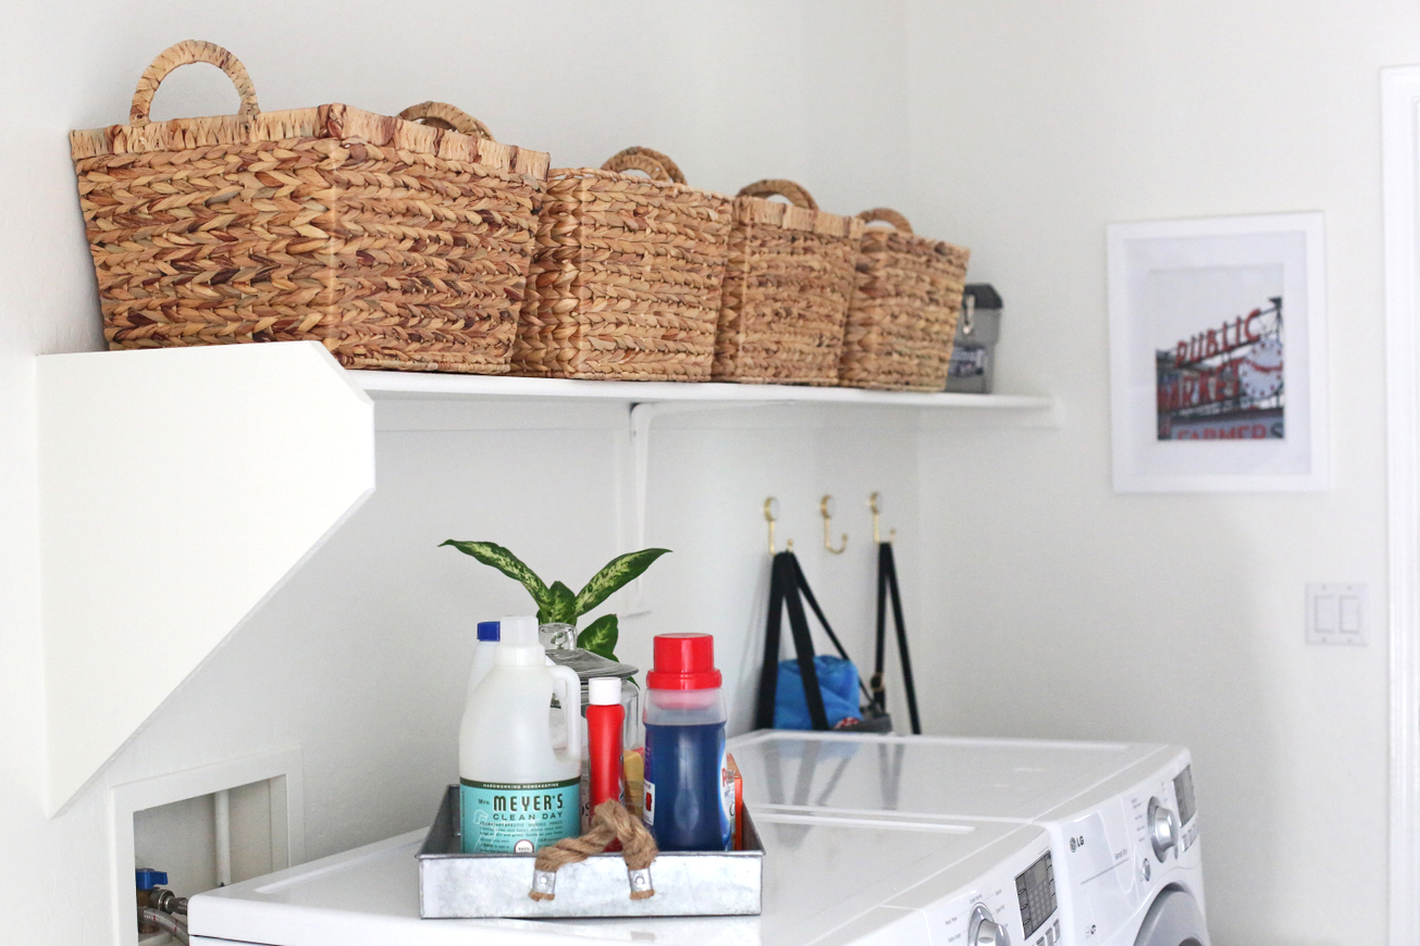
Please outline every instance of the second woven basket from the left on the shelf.
[{"label": "second woven basket from the left on the shelf", "polygon": [[728,197],[649,148],[554,169],[513,373],[710,380],[730,223]]}]

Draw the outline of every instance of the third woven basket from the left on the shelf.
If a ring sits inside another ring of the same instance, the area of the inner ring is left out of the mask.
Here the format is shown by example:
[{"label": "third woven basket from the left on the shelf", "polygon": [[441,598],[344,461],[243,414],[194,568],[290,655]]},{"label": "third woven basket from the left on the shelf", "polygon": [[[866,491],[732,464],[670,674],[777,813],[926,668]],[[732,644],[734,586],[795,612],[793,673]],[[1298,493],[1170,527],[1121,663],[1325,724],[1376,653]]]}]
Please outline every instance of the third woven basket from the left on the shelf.
[{"label": "third woven basket from the left on the shelf", "polygon": [[714,380],[836,384],[862,234],[862,220],[818,210],[792,182],[743,189],[734,199]]}]

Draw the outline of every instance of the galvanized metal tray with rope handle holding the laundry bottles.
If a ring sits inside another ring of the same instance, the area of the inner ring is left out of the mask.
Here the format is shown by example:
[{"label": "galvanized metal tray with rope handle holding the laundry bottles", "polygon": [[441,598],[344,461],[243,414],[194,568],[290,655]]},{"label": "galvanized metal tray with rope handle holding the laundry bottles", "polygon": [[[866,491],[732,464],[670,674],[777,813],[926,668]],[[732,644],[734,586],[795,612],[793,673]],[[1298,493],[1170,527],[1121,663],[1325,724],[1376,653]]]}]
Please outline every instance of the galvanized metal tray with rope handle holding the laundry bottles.
[{"label": "galvanized metal tray with rope handle holding the laundry bottles", "polygon": [[534,901],[532,854],[464,854],[459,786],[449,786],[419,851],[419,915],[425,919],[747,916],[761,912],[764,847],[748,811],[743,851],[662,851],[652,862],[656,895],[630,899],[621,854],[596,854],[557,872],[555,898]]}]

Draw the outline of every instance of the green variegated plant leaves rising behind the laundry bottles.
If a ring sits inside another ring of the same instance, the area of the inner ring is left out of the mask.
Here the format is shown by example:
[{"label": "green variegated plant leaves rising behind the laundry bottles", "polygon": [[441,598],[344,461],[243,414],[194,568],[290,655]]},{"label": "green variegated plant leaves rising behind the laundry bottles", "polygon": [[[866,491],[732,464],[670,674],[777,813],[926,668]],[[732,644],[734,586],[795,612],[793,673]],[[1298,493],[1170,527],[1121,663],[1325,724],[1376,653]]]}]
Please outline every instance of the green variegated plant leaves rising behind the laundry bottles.
[{"label": "green variegated plant leaves rising behind the laundry bottles", "polygon": [[[450,545],[464,555],[471,555],[479,562],[503,572],[514,581],[520,583],[532,596],[537,604],[538,624],[567,624],[577,628],[577,620],[605,601],[613,591],[626,586],[650,567],[650,563],[670,552],[670,549],[642,549],[628,552],[608,562],[601,572],[582,587],[572,593],[561,581],[547,584],[532,569],[523,563],[501,545],[493,542],[457,542],[449,539],[442,546]],[[606,660],[616,660],[616,616],[604,614],[577,635],[577,645]]]}]

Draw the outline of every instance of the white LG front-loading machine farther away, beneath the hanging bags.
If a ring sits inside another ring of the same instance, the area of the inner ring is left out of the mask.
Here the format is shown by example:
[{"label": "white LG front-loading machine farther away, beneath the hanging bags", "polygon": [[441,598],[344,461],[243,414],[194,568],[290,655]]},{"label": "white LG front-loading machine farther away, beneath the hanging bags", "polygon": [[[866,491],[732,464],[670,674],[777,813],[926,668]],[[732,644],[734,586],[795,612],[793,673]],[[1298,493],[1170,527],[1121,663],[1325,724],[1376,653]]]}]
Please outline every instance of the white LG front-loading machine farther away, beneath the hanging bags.
[{"label": "white LG front-loading machine farther away, beneath the hanging bags", "polygon": [[[730,747],[757,817],[970,818],[1044,828],[1061,929],[1054,922],[1022,929],[1012,943],[1210,943],[1186,749],[780,730],[740,736]],[[1030,912],[1024,895],[1018,906]],[[927,942],[977,946],[970,937]]]}]

